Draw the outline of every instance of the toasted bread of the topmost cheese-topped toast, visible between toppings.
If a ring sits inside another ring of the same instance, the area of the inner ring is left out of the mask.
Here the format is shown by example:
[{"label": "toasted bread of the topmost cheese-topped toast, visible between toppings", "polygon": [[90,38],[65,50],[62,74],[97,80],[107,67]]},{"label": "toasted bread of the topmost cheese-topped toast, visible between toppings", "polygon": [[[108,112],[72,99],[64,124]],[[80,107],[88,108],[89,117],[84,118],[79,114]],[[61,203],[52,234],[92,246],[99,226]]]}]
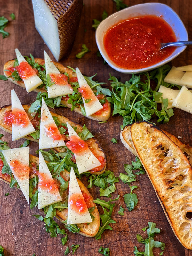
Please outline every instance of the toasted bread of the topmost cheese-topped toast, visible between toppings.
[{"label": "toasted bread of the topmost cheese-topped toast, visible between toppings", "polygon": [[[9,70],[9,68],[12,68],[13,65],[14,65],[14,62],[15,60],[9,60],[5,63],[4,65],[4,68],[3,70]],[[35,62],[38,63],[38,64],[41,64],[43,65],[45,63],[44,59],[40,59],[40,58],[35,58]],[[60,73],[65,73],[67,72],[69,74],[69,77],[76,77],[76,73],[73,72],[70,68],[66,68],[64,67],[61,63],[59,62],[54,62],[53,63],[55,64],[55,66],[59,69]],[[25,88],[25,84],[23,83],[23,81],[16,81],[14,80],[12,77],[9,77],[10,76],[10,72],[7,72],[7,71],[4,71],[4,75],[8,78],[9,81],[11,81],[12,83],[14,84],[17,84],[19,86],[21,86],[22,88]],[[34,90],[35,92],[46,92],[46,88],[42,87],[41,89],[38,89],[36,88]],[[61,100],[61,104],[63,104],[64,106],[68,107],[68,108],[71,108],[72,105],[67,103],[67,101],[65,100]],[[76,111],[77,113],[82,114],[81,112],[81,108],[79,107],[76,107],[74,109],[74,111]],[[96,120],[96,121],[106,121],[109,119],[111,115],[111,105],[110,103],[108,102],[108,109],[103,111],[100,115],[96,115],[96,114],[93,114],[91,116],[89,116],[90,119],[92,120]]]}]

